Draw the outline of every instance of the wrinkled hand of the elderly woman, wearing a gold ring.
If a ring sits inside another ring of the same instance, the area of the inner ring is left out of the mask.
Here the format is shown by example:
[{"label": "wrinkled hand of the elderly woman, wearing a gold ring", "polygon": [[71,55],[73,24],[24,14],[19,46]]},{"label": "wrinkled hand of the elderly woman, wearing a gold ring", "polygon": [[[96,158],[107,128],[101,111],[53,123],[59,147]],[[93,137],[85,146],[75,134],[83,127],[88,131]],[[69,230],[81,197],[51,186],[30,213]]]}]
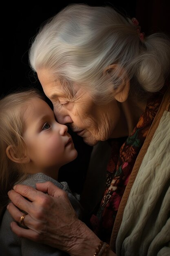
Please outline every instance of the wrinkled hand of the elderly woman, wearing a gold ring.
[{"label": "wrinkled hand of the elderly woman, wearing a gold ring", "polygon": [[28,213],[24,225],[29,229],[12,222],[12,231],[19,237],[56,247],[72,256],[93,254],[100,240],[77,218],[67,193],[51,182],[36,184],[36,188],[38,190],[16,185],[9,191],[12,202],[7,209],[11,216],[20,222],[23,212],[19,209]]}]

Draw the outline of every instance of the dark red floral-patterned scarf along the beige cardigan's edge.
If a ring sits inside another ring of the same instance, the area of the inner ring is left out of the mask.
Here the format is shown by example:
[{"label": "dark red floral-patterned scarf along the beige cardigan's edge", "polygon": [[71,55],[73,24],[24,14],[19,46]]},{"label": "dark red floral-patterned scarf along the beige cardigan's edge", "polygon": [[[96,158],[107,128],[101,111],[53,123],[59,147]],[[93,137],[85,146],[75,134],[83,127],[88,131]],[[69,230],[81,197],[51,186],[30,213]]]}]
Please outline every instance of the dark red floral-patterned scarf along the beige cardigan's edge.
[{"label": "dark red floral-patterned scarf along the beige cardigan's edge", "polygon": [[112,151],[107,166],[106,187],[99,209],[91,217],[91,229],[106,243],[110,243],[122,195],[162,98],[163,93],[159,92],[148,99],[146,109],[129,137],[108,140]]}]

